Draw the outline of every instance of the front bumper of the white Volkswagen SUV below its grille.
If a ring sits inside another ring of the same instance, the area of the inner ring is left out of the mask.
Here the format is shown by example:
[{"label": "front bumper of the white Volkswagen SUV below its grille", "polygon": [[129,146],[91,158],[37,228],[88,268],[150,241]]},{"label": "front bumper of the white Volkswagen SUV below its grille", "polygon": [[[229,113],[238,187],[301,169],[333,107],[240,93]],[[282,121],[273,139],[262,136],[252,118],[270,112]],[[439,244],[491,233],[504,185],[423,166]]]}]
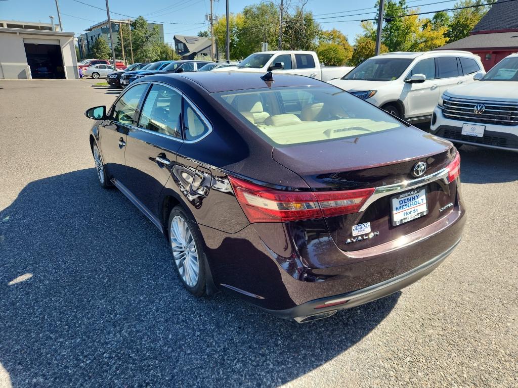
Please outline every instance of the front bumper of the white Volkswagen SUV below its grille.
[{"label": "front bumper of the white Volkswagen SUV below its grille", "polygon": [[[484,136],[473,137],[462,135],[463,124],[485,126]],[[518,152],[518,126],[452,120],[451,118],[444,117],[442,109],[439,107],[436,107],[434,110],[430,133],[456,143]]]}]

